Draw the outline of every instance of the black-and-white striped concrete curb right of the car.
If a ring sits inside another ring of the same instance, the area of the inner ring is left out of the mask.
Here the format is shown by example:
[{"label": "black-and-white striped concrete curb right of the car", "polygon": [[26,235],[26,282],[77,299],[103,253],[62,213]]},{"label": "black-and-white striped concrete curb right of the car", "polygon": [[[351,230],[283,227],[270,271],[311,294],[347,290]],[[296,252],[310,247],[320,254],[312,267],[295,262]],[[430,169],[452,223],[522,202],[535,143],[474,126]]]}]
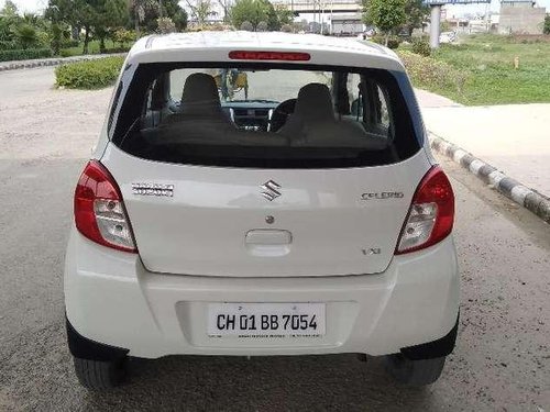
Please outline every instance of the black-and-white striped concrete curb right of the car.
[{"label": "black-and-white striped concrete curb right of the car", "polygon": [[507,177],[490,164],[474,157],[471,153],[430,133],[431,147],[451,158],[485,183],[491,185],[501,193],[519,205],[530,210],[544,222],[550,223],[550,199],[519,181]]}]

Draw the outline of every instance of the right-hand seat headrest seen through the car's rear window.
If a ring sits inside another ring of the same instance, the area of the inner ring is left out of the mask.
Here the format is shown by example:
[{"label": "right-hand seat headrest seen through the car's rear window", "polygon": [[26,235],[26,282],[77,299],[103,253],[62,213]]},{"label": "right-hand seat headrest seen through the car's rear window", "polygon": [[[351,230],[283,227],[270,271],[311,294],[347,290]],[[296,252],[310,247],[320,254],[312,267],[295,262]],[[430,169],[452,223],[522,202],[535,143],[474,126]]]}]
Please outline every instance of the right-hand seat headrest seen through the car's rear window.
[{"label": "right-hand seat headrest seen through the car's rear window", "polygon": [[295,115],[305,121],[334,120],[332,97],[327,85],[308,83],[298,92]]}]

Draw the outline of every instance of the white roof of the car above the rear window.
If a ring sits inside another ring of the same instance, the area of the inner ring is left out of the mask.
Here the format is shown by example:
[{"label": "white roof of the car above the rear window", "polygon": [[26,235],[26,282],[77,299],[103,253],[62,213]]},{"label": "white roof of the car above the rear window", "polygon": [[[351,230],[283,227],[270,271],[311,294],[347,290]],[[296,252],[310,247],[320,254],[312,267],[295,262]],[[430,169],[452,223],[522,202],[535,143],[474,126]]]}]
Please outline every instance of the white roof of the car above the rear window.
[{"label": "white roof of the car above the rear window", "polygon": [[233,62],[229,58],[231,51],[306,52],[311,56],[307,63],[312,65],[405,70],[393,51],[375,43],[317,34],[244,31],[146,36],[131,48],[127,63]]}]

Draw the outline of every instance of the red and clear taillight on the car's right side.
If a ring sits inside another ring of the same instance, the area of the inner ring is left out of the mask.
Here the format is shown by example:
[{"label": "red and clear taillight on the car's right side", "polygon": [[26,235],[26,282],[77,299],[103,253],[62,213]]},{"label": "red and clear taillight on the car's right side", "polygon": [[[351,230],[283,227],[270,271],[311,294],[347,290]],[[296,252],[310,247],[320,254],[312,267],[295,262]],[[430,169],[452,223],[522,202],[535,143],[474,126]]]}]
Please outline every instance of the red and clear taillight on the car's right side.
[{"label": "red and clear taillight on the car's right side", "polygon": [[454,193],[439,166],[426,174],[418,185],[403,226],[396,255],[431,246],[446,238],[454,221]]}]

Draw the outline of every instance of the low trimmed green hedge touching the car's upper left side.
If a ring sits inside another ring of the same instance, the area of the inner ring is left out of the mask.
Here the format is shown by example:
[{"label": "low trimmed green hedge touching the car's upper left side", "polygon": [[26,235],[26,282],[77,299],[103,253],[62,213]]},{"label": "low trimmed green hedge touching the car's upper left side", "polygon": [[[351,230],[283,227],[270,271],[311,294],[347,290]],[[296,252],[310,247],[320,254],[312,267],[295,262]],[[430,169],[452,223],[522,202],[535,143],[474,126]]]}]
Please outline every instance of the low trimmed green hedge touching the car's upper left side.
[{"label": "low trimmed green hedge touching the car's upper left side", "polygon": [[124,57],[105,57],[69,63],[55,69],[56,85],[68,89],[100,89],[117,80]]}]

